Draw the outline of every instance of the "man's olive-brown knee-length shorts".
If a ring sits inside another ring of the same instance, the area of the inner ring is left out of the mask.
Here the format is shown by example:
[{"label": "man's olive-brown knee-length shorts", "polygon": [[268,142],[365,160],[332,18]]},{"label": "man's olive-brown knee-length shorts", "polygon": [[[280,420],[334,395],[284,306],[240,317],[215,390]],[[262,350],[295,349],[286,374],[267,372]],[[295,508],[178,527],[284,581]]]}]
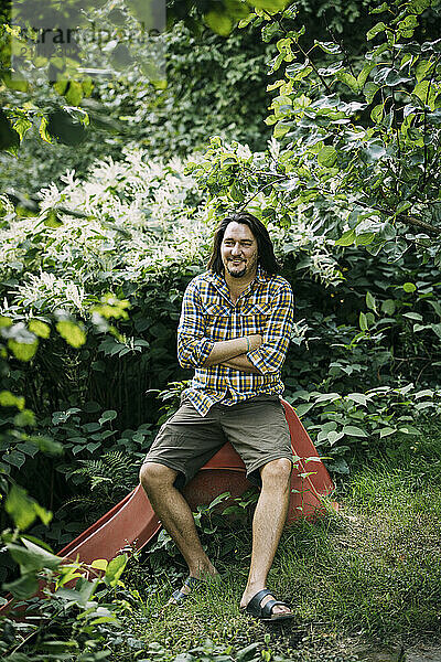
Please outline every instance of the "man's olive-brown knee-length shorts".
[{"label": "man's olive-brown knee-length shorts", "polygon": [[226,441],[241,457],[248,480],[258,485],[263,465],[280,458],[292,462],[289,427],[277,395],[260,395],[233,406],[216,404],[206,416],[201,416],[184,395],[143,463],[158,462],[178,471],[175,485],[181,489]]}]

